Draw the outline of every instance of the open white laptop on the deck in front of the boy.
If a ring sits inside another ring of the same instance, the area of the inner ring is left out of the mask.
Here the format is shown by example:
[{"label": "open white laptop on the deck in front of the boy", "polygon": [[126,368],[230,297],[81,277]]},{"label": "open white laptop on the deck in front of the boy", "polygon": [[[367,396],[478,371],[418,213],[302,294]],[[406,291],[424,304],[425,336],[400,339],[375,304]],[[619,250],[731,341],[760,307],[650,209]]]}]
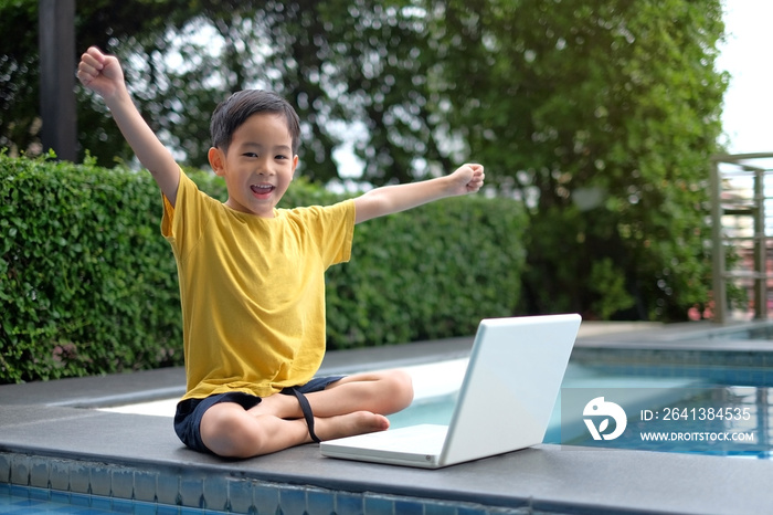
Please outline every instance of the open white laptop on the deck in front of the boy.
[{"label": "open white laptop on the deck in front of the boy", "polygon": [[581,317],[480,322],[449,425],[328,440],[322,455],[440,469],[542,442]]}]

